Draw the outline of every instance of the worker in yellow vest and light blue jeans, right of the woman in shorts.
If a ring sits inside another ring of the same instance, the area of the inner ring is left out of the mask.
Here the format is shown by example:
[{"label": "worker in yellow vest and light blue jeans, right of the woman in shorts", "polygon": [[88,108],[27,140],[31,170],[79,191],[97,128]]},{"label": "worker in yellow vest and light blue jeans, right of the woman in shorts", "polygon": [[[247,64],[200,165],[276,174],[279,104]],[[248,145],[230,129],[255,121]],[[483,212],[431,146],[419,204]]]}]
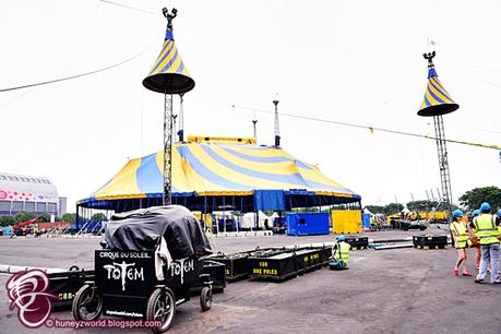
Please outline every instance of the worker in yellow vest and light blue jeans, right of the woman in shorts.
[{"label": "worker in yellow vest and light blue jeans, right of the woman in shorts", "polygon": [[[487,265],[490,262],[490,283],[501,284],[499,279],[499,217],[490,213],[490,205],[487,202],[480,205],[480,215],[472,223],[475,236],[481,246],[480,271],[475,283],[482,283],[487,275]],[[470,225],[472,225],[470,224]]]}]

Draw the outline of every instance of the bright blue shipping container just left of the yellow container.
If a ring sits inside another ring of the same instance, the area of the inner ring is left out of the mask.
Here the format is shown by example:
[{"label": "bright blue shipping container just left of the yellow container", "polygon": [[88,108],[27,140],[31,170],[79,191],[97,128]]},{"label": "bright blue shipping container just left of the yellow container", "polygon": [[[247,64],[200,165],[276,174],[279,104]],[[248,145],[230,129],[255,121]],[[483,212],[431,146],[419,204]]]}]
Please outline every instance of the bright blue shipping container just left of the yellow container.
[{"label": "bright blue shipping container just left of the yellow container", "polygon": [[329,235],[329,213],[287,213],[287,236]]}]

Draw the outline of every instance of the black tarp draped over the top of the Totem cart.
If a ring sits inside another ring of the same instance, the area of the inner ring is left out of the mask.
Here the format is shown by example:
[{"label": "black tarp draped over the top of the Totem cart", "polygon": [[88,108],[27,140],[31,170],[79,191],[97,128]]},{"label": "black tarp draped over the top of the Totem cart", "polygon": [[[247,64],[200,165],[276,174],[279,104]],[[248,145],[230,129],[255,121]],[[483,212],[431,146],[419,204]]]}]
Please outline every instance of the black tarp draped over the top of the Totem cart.
[{"label": "black tarp draped over the top of the Totem cart", "polygon": [[151,251],[162,236],[174,260],[212,253],[200,222],[181,205],[115,214],[106,227],[105,241],[114,250]]}]

